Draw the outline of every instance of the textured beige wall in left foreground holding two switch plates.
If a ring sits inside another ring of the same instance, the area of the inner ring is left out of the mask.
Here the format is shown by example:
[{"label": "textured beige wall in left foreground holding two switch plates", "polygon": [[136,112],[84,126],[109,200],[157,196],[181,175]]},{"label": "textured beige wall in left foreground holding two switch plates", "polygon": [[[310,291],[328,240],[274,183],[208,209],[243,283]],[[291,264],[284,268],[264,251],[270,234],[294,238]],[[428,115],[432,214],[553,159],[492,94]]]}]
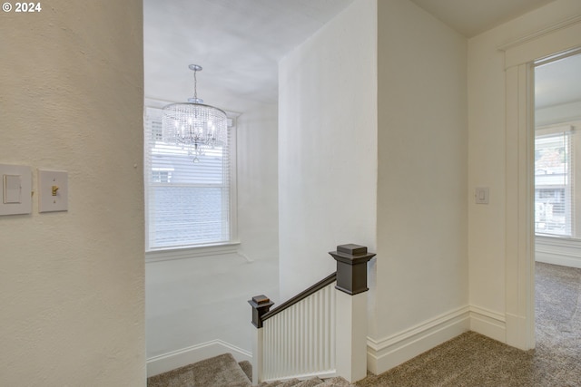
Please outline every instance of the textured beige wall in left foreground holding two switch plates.
[{"label": "textured beige wall in left foreground holding two switch plates", "polygon": [[[1,383],[143,386],[142,2],[40,4],[0,22],[0,163],[34,170],[0,218]],[[38,213],[37,168],[67,212]]]}]

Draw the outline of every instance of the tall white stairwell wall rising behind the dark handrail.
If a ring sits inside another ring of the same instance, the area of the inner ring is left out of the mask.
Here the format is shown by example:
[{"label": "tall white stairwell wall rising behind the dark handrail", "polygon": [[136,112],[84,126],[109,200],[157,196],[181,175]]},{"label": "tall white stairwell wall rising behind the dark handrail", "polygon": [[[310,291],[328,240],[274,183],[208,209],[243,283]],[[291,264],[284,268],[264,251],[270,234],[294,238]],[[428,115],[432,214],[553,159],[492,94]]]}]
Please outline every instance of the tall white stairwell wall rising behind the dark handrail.
[{"label": "tall white stairwell wall rising behind the dark handrail", "polygon": [[281,297],[376,246],[376,4],[356,0],[279,66]]}]

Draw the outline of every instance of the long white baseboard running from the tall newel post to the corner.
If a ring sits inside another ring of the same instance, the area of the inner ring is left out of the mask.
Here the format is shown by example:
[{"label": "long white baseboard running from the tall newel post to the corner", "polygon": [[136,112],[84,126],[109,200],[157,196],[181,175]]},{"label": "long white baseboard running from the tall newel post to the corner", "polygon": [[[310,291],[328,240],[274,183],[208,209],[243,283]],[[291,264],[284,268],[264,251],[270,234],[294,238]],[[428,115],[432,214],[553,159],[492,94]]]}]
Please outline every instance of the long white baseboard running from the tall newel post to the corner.
[{"label": "long white baseboard running from the tall newel post to the corner", "polygon": [[469,329],[470,308],[463,306],[378,341],[368,337],[368,370],[386,372]]}]

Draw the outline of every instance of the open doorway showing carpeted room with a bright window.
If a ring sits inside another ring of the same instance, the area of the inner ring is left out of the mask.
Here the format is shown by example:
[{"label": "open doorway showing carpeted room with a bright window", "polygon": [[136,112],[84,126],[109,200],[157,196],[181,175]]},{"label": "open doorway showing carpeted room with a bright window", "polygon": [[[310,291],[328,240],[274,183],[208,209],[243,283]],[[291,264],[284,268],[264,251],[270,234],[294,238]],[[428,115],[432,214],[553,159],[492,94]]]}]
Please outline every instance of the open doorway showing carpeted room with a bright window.
[{"label": "open doorway showing carpeted room with a bright window", "polygon": [[564,351],[581,337],[581,51],[533,70],[536,337]]}]

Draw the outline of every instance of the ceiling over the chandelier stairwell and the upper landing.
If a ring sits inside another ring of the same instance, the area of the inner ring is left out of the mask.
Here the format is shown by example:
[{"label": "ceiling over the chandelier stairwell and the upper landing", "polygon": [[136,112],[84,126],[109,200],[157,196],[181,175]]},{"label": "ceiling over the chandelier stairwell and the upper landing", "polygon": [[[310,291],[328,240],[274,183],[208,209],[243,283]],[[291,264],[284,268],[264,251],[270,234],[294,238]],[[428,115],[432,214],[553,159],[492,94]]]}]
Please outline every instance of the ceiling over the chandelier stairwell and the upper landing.
[{"label": "ceiling over the chandelier stairwell and the upper landing", "polygon": [[[553,0],[411,0],[474,36]],[[145,96],[230,111],[276,103],[278,63],[353,0],[143,0]]]}]

